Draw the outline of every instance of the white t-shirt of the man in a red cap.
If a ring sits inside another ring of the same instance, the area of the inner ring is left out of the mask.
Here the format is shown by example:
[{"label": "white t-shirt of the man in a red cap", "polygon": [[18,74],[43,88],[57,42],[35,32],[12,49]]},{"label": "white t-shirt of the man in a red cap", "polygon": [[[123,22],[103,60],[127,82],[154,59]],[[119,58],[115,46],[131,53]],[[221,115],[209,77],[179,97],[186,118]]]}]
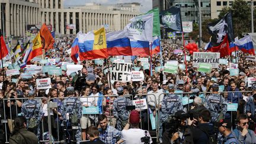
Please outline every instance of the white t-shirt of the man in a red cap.
[{"label": "white t-shirt of the man in a red cap", "polygon": [[[121,137],[124,140],[123,143],[124,144],[144,144],[144,142],[141,142],[141,137],[145,137],[145,131],[148,132],[148,130],[142,130],[142,129],[122,130]],[[147,133],[147,136],[150,137],[149,143],[152,143],[152,139],[149,132]]]}]

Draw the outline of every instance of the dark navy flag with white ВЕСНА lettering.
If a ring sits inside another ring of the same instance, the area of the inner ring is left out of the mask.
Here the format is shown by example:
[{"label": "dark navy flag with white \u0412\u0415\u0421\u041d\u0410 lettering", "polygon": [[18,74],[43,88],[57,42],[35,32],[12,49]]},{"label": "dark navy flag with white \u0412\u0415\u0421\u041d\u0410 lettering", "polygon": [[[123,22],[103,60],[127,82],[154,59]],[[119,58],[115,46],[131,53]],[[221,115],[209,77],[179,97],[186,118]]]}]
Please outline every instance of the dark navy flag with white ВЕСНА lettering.
[{"label": "dark navy flag with white \u0412\u0415\u0421\u041d\u0410 lettering", "polygon": [[171,7],[159,13],[160,24],[167,31],[183,31],[180,7]]}]

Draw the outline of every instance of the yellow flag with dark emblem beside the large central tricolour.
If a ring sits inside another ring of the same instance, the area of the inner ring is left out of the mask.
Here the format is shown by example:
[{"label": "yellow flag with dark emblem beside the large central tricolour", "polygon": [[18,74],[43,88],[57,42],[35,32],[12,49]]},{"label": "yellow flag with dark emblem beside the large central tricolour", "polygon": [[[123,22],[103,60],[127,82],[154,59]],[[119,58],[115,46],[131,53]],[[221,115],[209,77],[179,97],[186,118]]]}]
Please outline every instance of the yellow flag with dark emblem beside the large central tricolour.
[{"label": "yellow flag with dark emblem beside the large central tricolour", "polygon": [[94,31],[94,47],[93,50],[106,49],[107,42],[105,39],[105,28]]}]

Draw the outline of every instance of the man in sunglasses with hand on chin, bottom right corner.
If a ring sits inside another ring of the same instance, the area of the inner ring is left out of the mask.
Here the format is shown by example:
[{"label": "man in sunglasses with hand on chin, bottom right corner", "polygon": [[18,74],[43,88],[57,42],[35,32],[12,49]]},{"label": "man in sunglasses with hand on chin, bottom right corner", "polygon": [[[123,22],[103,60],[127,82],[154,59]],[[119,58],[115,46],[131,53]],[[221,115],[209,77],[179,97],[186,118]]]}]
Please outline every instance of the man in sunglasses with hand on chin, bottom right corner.
[{"label": "man in sunglasses with hand on chin, bottom right corner", "polygon": [[252,130],[249,130],[249,119],[246,114],[240,114],[237,119],[238,127],[233,130],[233,135],[238,139],[239,143],[242,144],[255,144],[256,137]]}]

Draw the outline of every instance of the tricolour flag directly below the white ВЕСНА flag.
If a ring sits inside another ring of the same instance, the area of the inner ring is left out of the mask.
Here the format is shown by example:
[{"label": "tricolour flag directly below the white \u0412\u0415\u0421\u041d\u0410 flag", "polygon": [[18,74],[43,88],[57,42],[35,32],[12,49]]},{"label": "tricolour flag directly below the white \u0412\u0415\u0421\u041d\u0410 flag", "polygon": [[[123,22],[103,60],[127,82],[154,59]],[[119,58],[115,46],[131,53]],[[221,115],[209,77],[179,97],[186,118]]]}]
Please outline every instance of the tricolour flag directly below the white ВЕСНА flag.
[{"label": "tricolour flag directly below the white \u0412\u0415\u0421\u041d\u0410 flag", "polygon": [[149,56],[149,41],[130,39],[133,56]]}]

